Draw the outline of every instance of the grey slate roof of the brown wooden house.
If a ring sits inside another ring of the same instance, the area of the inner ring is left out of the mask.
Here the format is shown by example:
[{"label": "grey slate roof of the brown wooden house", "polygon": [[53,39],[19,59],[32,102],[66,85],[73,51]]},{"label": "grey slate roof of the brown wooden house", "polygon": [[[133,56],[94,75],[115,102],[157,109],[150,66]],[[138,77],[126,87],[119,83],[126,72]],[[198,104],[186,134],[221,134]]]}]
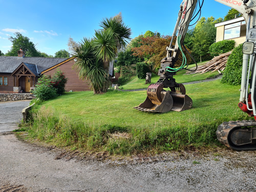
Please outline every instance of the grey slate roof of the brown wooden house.
[{"label": "grey slate roof of the brown wooden house", "polygon": [[[58,63],[65,61],[67,58],[56,57],[17,57],[17,56],[0,56],[0,73],[12,73],[17,67],[24,62],[25,65],[36,74],[49,69]],[[34,66],[32,66],[34,65]],[[36,65],[36,66],[35,66]]]}]

